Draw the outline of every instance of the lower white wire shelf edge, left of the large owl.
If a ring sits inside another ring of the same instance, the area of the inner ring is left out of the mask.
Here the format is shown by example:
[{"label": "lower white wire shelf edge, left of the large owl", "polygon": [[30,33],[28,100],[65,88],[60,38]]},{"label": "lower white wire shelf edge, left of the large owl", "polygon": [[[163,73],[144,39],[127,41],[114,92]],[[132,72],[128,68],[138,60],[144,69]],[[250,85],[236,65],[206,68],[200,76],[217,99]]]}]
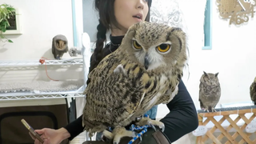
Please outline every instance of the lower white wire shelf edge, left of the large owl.
[{"label": "lower white wire shelf edge, left of the large owl", "polygon": [[6,93],[0,94],[0,101],[6,100],[26,100],[26,99],[43,99],[43,98],[74,98],[85,97],[82,91],[66,91],[55,93]]}]

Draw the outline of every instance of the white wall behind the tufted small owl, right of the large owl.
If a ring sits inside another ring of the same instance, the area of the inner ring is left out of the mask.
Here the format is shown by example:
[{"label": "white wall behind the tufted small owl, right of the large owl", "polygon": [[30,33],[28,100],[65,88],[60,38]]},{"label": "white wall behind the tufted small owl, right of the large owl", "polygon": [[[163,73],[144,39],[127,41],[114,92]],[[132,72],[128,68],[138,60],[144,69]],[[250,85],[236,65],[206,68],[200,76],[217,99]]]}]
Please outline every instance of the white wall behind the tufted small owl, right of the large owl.
[{"label": "white wall behind the tufted small owl, right of the large owl", "polygon": [[[229,25],[229,20],[219,17],[218,7],[213,3],[212,50],[202,50],[202,23],[198,3],[182,0],[182,12],[186,18],[190,49],[190,78],[183,78],[194,104],[198,102],[199,79],[203,70],[217,73],[222,87],[218,106],[223,103],[250,102],[250,84],[256,76],[256,20],[241,26]],[[169,110],[158,107],[158,118]]]}]

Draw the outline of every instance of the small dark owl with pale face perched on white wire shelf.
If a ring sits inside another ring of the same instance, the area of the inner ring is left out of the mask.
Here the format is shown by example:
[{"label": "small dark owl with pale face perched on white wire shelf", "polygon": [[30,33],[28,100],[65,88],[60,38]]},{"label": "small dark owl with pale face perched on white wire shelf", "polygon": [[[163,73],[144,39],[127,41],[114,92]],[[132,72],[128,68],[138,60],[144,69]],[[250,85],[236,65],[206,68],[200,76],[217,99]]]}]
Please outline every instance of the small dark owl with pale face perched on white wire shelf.
[{"label": "small dark owl with pale face perched on white wire shelf", "polygon": [[67,46],[67,39],[64,35],[58,34],[53,38],[52,53],[54,54],[55,59],[61,59],[63,54],[66,53],[69,48]]}]

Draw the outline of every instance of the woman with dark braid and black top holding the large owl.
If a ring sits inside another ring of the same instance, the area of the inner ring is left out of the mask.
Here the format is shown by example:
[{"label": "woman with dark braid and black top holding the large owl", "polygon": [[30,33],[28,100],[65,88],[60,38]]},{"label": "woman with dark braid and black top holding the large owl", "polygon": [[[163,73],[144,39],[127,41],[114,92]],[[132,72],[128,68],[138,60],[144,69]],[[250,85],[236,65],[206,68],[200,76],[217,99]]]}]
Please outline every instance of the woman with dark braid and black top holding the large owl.
[{"label": "woman with dark braid and black top holding the large owl", "polygon": [[[149,22],[151,2],[152,0],[95,0],[95,7],[99,12],[99,24],[96,48],[90,58],[90,71],[94,70],[102,58],[118,49],[130,26],[145,20]],[[111,42],[103,49],[107,30],[111,30]],[[87,84],[89,82],[90,79],[87,80]],[[160,121],[166,126],[164,134],[170,142],[176,141],[198,127],[194,102],[182,81],[178,85],[178,94],[167,104],[167,107],[170,113]],[[45,139],[44,144],[60,143],[66,138],[72,140],[83,131],[82,116],[58,130],[45,128],[35,131],[42,134],[41,137]],[[39,142],[35,140],[34,143]]]}]

